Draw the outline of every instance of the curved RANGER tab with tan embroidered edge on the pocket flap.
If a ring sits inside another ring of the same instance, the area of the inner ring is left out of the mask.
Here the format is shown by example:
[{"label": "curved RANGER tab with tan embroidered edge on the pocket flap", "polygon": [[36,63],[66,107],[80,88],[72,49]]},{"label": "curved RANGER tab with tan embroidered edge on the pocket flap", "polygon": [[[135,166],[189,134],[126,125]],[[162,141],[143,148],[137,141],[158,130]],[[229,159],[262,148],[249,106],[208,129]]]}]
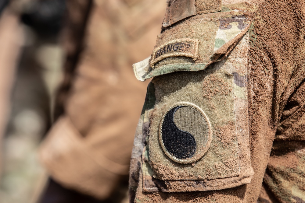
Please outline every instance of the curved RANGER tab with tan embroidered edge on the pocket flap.
[{"label": "curved RANGER tab with tan embroidered edge on the pocket flap", "polygon": [[198,58],[198,44],[198,39],[171,40],[152,51],[150,67],[153,68],[154,64],[169,57],[185,56],[196,60]]}]

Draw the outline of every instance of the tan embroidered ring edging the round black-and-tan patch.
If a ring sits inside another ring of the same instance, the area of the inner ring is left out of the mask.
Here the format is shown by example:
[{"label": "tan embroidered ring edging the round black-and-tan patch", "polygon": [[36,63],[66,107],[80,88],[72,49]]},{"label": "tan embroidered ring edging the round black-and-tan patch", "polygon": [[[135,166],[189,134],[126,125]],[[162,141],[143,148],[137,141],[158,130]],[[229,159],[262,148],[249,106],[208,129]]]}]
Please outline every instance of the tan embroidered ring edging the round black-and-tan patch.
[{"label": "tan embroidered ring edging the round black-and-tan patch", "polygon": [[[177,106],[186,106],[186,107],[192,107],[194,108],[195,110],[199,111],[199,113],[203,116],[203,118],[205,119],[206,121],[206,124],[208,126],[208,141],[206,143],[206,146],[203,148],[203,150],[201,150],[201,152],[197,153],[197,150],[195,152],[195,155],[191,158],[188,158],[188,159],[177,159],[176,157],[172,156],[170,154],[170,152],[167,151],[167,149],[165,148],[164,146],[164,143],[163,143],[163,140],[162,140],[162,125],[163,125],[163,121],[164,121],[164,117],[166,116],[167,112],[169,110],[171,110],[172,108],[174,107],[177,107]],[[212,128],[212,124],[210,123],[210,120],[209,118],[207,117],[206,113],[204,113],[204,111],[198,107],[197,105],[193,104],[193,103],[190,103],[190,102],[178,102],[178,103],[174,103],[172,106],[170,106],[167,111],[163,114],[162,116],[162,119],[161,119],[161,122],[159,124],[159,128],[158,128],[158,134],[159,134],[159,142],[161,144],[161,147],[164,151],[164,153],[171,159],[173,160],[174,162],[177,162],[177,163],[184,163],[184,164],[187,164],[187,163],[194,163],[196,161],[198,161],[199,159],[201,159],[205,154],[206,152],[208,151],[208,149],[210,148],[210,145],[211,145],[211,142],[212,142],[212,137],[213,137],[213,128]]]}]

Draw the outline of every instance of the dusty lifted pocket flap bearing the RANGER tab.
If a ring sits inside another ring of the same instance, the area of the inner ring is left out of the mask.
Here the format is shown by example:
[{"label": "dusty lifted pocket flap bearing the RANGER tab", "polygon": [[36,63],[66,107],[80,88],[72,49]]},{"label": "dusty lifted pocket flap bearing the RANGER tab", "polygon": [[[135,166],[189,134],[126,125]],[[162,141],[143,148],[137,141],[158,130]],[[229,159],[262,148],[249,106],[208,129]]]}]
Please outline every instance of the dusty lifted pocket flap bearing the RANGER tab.
[{"label": "dusty lifted pocket flap bearing the RANGER tab", "polygon": [[250,21],[240,15],[203,14],[164,30],[152,55],[133,65],[136,78],[199,71],[225,58],[249,29]]}]

